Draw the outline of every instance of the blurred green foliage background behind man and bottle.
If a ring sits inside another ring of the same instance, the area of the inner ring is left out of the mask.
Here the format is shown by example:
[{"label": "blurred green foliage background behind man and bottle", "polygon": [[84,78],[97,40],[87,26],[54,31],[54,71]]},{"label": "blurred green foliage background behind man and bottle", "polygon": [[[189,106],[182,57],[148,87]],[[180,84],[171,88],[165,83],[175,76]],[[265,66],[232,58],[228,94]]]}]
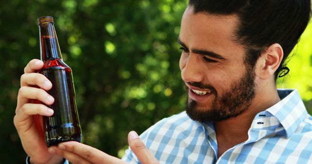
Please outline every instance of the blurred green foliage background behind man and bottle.
[{"label": "blurred green foliage background behind man and bottle", "polygon": [[[24,163],[13,125],[23,68],[39,58],[39,16],[53,16],[74,75],[83,142],[121,157],[131,130],[180,111],[186,93],[178,60],[186,0],[1,0],[0,163]],[[298,88],[312,113],[312,25],[279,87]]]}]

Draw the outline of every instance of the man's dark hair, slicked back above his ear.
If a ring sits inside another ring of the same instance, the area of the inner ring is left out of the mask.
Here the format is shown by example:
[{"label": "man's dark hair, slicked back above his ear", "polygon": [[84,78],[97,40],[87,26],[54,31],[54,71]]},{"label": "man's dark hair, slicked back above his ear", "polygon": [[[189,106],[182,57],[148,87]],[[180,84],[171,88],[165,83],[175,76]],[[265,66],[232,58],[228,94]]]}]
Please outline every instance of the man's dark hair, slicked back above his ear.
[{"label": "man's dark hair, slicked back above his ear", "polygon": [[275,72],[288,73],[285,60],[306,29],[311,16],[311,0],[190,0],[194,14],[239,17],[235,39],[246,49],[245,62],[255,65],[270,45],[282,46],[284,57]]}]

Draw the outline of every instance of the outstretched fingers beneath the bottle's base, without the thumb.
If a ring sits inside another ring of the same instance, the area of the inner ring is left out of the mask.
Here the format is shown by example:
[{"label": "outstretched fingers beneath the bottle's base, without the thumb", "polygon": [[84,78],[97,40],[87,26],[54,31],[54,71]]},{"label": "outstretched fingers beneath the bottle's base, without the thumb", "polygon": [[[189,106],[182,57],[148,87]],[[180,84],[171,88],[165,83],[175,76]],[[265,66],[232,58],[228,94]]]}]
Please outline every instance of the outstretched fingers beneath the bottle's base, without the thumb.
[{"label": "outstretched fingers beneath the bottle's base, without the thumb", "polygon": [[[58,148],[51,148],[55,149],[57,155],[63,156],[72,163],[78,163],[78,159],[81,164],[84,164],[85,161],[94,164],[126,164],[116,157],[76,141],[63,142],[59,144]],[[49,148],[49,151],[53,152],[53,150],[50,150],[51,148]]]}]

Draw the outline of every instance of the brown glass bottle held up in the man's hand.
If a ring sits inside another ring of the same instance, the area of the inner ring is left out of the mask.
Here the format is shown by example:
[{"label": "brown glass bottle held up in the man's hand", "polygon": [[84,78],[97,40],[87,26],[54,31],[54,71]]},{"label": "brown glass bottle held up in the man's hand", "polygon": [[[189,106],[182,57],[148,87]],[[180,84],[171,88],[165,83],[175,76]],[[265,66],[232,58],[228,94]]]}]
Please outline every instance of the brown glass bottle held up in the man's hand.
[{"label": "brown glass bottle held up in the man's hand", "polygon": [[40,57],[44,62],[38,73],[52,82],[52,88],[47,92],[55,99],[52,105],[47,105],[54,110],[54,114],[43,116],[46,144],[50,147],[65,141],[81,142],[73,74],[71,68],[62,60],[53,17],[39,17],[38,24]]}]

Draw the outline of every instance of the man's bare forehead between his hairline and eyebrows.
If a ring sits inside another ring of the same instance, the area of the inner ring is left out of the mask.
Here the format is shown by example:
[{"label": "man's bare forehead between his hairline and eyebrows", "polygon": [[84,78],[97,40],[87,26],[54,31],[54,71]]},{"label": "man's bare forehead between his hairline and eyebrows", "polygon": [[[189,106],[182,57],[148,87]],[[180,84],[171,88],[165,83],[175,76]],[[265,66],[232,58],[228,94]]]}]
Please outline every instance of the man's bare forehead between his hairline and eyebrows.
[{"label": "man's bare forehead between his hairline and eyebrows", "polygon": [[188,7],[182,16],[179,39],[189,49],[206,49],[223,55],[234,51],[244,54],[243,46],[234,40],[237,22],[236,15],[194,14],[192,7]]}]

